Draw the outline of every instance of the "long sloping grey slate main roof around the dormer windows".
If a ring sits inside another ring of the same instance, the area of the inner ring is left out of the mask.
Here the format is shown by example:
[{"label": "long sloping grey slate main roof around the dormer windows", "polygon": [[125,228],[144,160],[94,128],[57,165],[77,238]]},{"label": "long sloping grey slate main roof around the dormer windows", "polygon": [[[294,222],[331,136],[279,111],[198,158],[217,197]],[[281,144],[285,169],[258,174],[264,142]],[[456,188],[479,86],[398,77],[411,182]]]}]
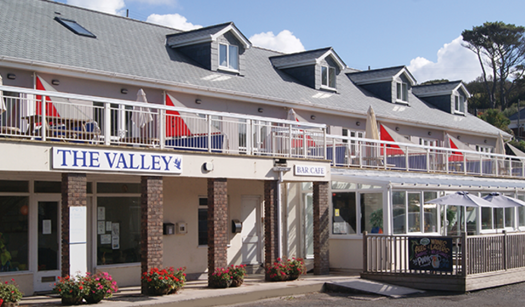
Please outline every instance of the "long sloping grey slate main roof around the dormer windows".
[{"label": "long sloping grey slate main roof around the dormer windows", "polygon": [[[97,38],[72,33],[53,19],[55,12],[61,13],[63,18],[75,20]],[[108,75],[123,74],[138,80],[158,79],[223,93],[234,91],[251,97],[285,101],[287,106],[293,105],[296,109],[313,107],[332,114],[354,114],[364,118],[366,110],[372,106],[380,121],[426,124],[445,130],[461,129],[493,136],[500,131],[470,114],[465,117],[448,114],[414,95],[409,97],[409,106],[388,103],[356,86],[343,73],[337,76],[337,94],[304,86],[272,66],[269,58],[282,54],[267,49],[253,47],[245,51],[244,76],[210,71],[166,46],[166,36],[174,32],[172,28],[51,1],[2,0],[0,68],[5,65],[6,58],[25,60],[27,63],[41,61],[54,67],[63,65],[106,71]],[[33,67],[39,70],[37,64]],[[382,73],[387,72],[388,69]],[[58,69],[57,74],[60,74]],[[214,81],[210,78],[212,75],[224,78]],[[146,83],[144,86],[147,86]]]}]

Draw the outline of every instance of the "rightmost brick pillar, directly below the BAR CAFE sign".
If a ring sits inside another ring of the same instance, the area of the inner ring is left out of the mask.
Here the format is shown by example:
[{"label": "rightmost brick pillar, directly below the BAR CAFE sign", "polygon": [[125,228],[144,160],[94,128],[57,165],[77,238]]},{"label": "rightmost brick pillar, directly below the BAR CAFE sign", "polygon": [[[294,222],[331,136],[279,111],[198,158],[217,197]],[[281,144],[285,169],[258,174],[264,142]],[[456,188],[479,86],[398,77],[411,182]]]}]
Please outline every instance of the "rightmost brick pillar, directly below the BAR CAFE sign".
[{"label": "rightmost brick pillar, directly below the BAR CAFE sign", "polygon": [[328,275],[330,234],[328,182],[313,182],[313,274]]}]

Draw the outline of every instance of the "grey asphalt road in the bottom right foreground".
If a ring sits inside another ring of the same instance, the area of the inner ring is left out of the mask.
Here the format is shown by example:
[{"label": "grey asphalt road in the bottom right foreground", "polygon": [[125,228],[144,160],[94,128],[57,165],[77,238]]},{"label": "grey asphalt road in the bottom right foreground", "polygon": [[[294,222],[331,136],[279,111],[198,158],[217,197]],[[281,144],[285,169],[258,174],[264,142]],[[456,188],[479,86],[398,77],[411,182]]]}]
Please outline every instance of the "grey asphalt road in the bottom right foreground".
[{"label": "grey asphalt road in the bottom right foreground", "polygon": [[405,298],[348,293],[309,293],[230,306],[525,306],[525,283],[456,294],[426,292]]}]

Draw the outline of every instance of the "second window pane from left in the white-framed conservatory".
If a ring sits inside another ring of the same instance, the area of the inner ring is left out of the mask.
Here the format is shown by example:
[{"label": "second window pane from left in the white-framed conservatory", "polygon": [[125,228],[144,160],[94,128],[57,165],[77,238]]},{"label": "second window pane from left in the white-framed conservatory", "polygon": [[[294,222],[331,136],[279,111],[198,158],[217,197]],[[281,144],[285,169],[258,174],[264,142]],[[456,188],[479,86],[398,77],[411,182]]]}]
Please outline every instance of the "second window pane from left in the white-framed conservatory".
[{"label": "second window pane from left in the white-framed conservatory", "polygon": [[361,194],[361,233],[383,233],[383,193]]}]

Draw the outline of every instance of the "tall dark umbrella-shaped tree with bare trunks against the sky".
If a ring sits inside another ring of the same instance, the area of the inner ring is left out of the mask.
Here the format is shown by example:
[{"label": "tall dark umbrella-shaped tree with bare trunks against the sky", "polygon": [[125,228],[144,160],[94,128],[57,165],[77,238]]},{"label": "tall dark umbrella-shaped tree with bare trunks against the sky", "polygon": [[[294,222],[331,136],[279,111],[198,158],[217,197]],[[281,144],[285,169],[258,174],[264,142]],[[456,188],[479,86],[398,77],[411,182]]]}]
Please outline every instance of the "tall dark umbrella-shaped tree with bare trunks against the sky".
[{"label": "tall dark umbrella-shaped tree with bare trunks against the sky", "polygon": [[[479,60],[490,107],[496,107],[496,93],[502,109],[507,107],[510,91],[509,78],[519,79],[525,72],[525,27],[503,22],[486,22],[482,26],[464,30],[463,46],[472,50]],[[492,79],[485,69],[490,68]]]}]

